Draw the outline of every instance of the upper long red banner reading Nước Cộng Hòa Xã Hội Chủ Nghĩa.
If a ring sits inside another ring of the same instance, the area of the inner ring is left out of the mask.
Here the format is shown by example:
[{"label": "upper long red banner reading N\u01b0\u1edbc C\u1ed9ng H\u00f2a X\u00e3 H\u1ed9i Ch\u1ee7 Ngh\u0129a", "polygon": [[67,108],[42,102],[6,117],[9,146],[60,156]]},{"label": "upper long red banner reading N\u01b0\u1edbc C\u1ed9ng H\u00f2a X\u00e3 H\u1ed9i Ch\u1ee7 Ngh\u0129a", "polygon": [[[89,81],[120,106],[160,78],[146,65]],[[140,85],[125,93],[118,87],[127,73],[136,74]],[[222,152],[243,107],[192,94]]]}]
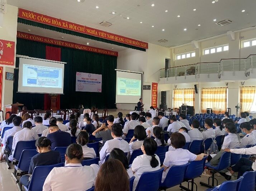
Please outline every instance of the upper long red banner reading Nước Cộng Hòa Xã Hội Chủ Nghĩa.
[{"label": "upper long red banner reading N\u01b0\u1edbc C\u1ed9ng H\u00f2a X\u00e3 H\u1ed9i Ch\u1ee7 Ngh\u0129a", "polygon": [[56,26],[62,29],[67,29],[67,30],[71,30],[71,31],[75,31],[75,32],[80,32],[83,34],[87,34],[87,35],[91,35],[91,36],[96,36],[96,37],[100,37],[103,39],[108,39],[108,40],[112,40],[115,42],[120,42],[123,44],[128,44],[131,46],[137,46],[143,49],[147,49],[148,48],[148,43],[147,42],[143,42],[143,41],[139,41],[139,40],[135,40],[135,39],[131,39],[125,36],[120,36],[120,35],[116,35],[110,32],[106,32],[103,30],[98,30],[98,29],[94,29],[88,26],[84,26],[84,25],[79,25],[76,24],[74,22],[69,22],[69,21],[65,21],[62,19],[57,19],[48,15],[43,15],[37,12],[33,12],[33,11],[28,11],[25,9],[20,9],[19,8],[19,14],[18,14],[19,18],[22,19],[27,19],[30,21],[35,21],[35,22],[40,22],[42,24],[46,24],[46,25],[51,25],[51,26]]}]

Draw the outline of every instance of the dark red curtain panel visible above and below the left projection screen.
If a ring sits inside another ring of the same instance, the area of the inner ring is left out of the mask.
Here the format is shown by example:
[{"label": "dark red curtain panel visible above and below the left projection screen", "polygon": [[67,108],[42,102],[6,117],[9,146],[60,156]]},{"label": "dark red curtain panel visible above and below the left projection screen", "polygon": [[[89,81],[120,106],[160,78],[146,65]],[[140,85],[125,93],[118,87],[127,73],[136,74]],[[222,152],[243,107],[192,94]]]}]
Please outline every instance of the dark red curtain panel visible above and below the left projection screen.
[{"label": "dark red curtain panel visible above and below the left projection screen", "polygon": [[[46,46],[46,59],[61,61],[61,48]],[[57,96],[56,107],[60,109],[60,95]],[[51,99],[49,94],[44,94],[44,110],[49,109],[51,109]]]}]

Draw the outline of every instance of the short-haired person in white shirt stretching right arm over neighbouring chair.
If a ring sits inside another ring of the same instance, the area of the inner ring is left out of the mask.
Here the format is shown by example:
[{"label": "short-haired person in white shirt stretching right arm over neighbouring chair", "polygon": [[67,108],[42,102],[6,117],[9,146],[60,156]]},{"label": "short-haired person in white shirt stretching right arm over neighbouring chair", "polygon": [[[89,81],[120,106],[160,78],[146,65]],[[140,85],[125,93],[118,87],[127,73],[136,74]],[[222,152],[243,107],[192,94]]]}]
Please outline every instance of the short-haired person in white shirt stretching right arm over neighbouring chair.
[{"label": "short-haired person in white shirt stretching right arm over neighbouring chair", "polygon": [[174,132],[171,134],[171,145],[174,150],[167,151],[165,154],[165,160],[163,161],[163,175],[162,182],[165,180],[167,173],[170,168],[174,165],[185,165],[190,161],[200,161],[203,159],[205,154],[195,155],[189,150],[182,149],[186,144],[184,135],[179,132]]}]

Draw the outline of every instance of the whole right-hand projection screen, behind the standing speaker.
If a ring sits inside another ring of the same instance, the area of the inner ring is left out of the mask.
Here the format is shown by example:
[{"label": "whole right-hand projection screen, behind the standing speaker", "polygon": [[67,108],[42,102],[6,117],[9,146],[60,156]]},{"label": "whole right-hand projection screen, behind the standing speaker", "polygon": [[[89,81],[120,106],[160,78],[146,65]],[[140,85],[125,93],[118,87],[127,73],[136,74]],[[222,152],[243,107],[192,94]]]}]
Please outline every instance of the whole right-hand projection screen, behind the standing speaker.
[{"label": "whole right-hand projection screen, behind the standing speaker", "polygon": [[117,71],[116,104],[137,104],[141,98],[140,73]]}]

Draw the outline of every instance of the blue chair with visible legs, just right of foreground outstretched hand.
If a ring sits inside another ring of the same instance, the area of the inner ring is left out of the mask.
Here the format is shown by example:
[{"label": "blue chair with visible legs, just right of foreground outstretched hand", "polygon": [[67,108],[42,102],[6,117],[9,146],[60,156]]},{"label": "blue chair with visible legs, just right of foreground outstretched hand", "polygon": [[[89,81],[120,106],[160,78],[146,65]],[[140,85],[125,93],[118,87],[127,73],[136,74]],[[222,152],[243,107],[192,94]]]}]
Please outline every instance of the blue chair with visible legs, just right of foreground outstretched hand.
[{"label": "blue chair with visible legs, just right of foreground outstretched hand", "polygon": [[[208,178],[208,184],[204,182],[200,182],[200,185],[213,188],[214,187],[214,179],[217,181],[218,185],[218,180],[214,177],[215,173],[222,171],[224,169],[227,169],[230,166],[230,159],[231,159],[231,153],[230,152],[223,152],[221,159],[219,160],[219,164],[217,166],[212,166],[210,162],[207,162],[205,166],[210,169],[212,172],[212,176]],[[212,185],[210,185],[210,179],[212,179]]]}]

